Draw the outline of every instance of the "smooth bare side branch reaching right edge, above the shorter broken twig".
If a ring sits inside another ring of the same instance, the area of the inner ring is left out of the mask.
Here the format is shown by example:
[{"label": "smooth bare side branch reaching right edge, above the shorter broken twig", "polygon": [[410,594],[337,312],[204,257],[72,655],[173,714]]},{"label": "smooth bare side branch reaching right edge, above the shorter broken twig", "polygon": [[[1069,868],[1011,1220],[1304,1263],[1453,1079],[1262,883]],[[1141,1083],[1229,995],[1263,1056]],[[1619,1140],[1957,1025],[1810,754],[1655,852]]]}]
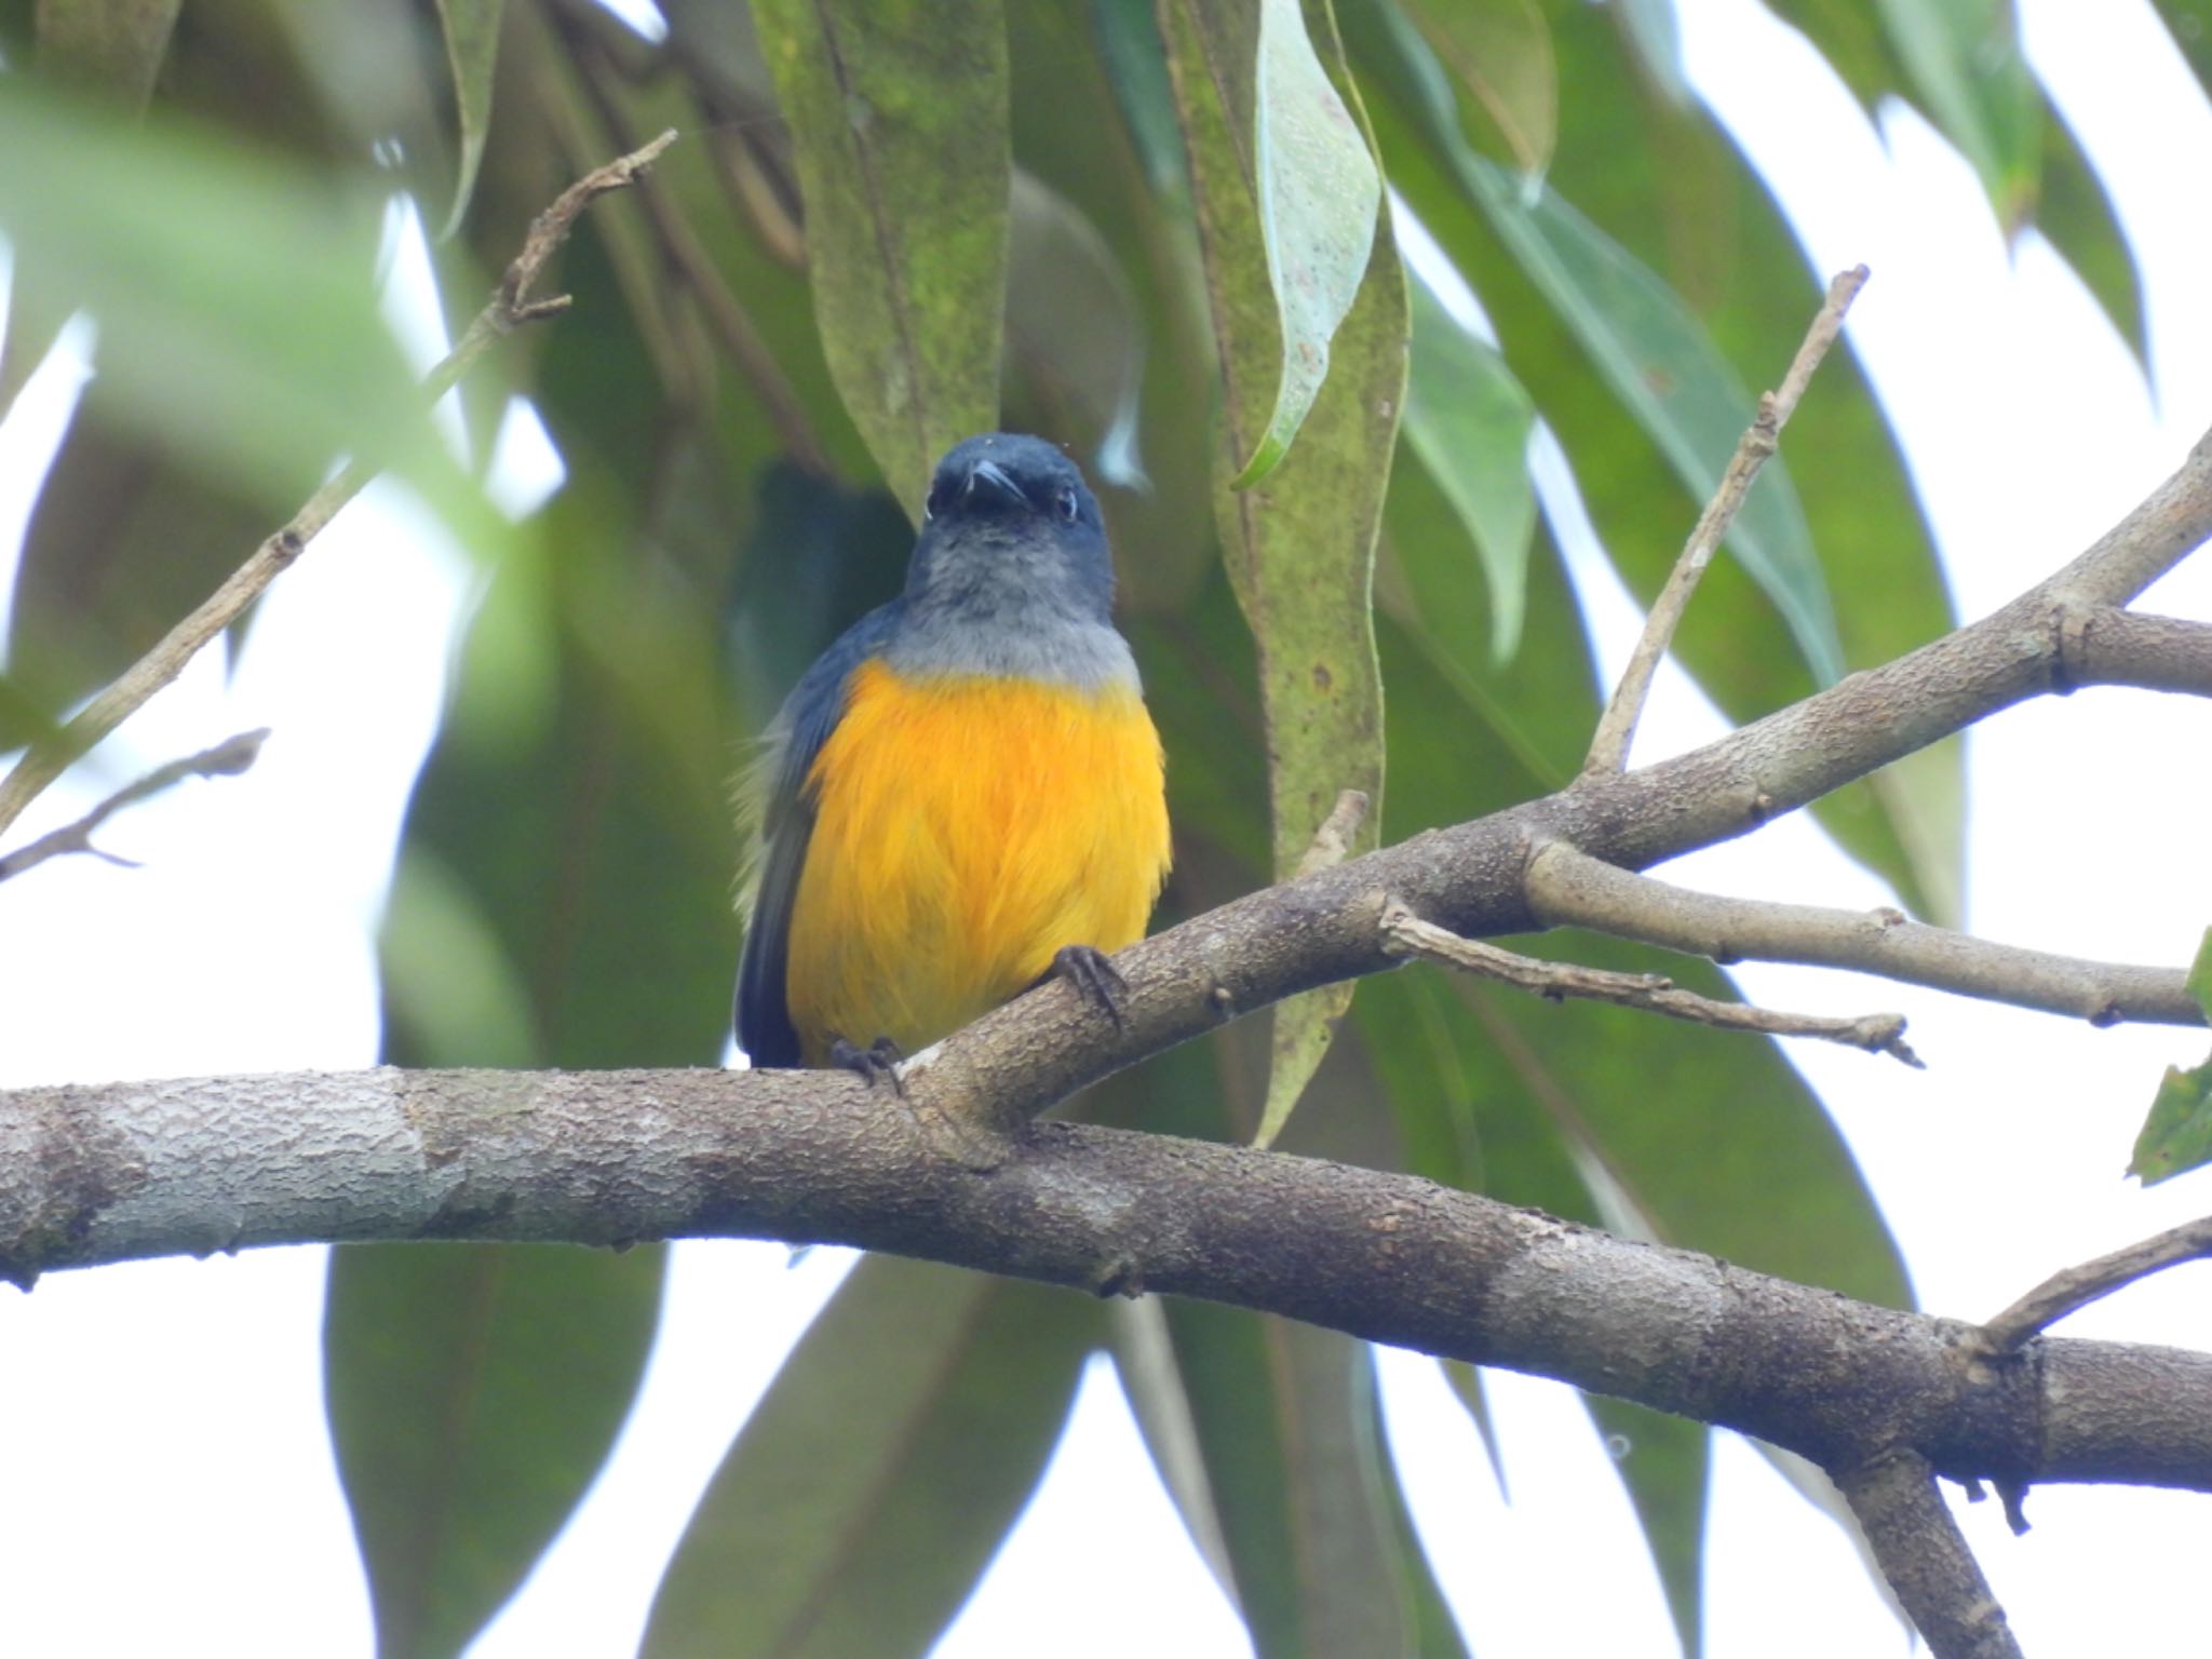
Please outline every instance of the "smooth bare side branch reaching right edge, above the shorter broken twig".
[{"label": "smooth bare side branch reaching right edge, above the shorter broken twig", "polygon": [[2181,969],[2090,962],[1927,927],[1896,909],[1829,909],[1763,898],[1721,898],[1637,876],[1562,841],[1537,847],[1526,874],[1528,909],[1546,927],[1663,945],[1730,962],[1809,962],[1929,984],[1984,1002],[2070,1013],[2097,1026],[2139,1020],[2201,1026],[2203,1009]]}]

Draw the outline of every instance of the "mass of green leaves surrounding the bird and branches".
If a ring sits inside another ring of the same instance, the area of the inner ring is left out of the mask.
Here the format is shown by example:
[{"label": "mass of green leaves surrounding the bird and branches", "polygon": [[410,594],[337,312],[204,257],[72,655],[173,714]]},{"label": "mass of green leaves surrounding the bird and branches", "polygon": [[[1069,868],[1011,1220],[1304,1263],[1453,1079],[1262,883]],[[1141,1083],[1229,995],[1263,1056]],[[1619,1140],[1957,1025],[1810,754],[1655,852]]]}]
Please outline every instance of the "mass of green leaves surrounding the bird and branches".
[{"label": "mass of green leaves surrounding the bird and branches", "polygon": [[[1922,111],[1997,223],[2044,230],[2141,347],[2130,250],[2006,0],[1772,4],[1867,108]],[[2212,7],[2161,13],[2212,71]],[[1535,422],[1650,595],[1827,276],[1683,84],[1666,0],[661,18],[648,38],[591,0],[0,0],[0,409],[73,314],[97,369],[15,577],[0,741],[144,650],[336,456],[398,467],[482,557],[385,916],[400,1064],[721,1060],[728,774],[896,588],[933,456],[993,420],[1102,484],[1170,754],[1161,922],[1294,865],[1343,785],[1378,796],[1360,845],[1559,787],[1597,686],[1540,533]],[[566,467],[500,529],[376,310],[394,204],[449,221],[460,325],[562,184],[661,126],[684,144],[551,276],[573,312],[462,387],[471,453],[520,392]],[[1440,248],[1411,285],[1402,212]],[[1736,719],[1951,624],[1849,352],[1790,453],[1679,639]],[[1955,911],[1955,745],[1818,814],[1909,907]],[[1161,1055],[1084,1110],[1250,1137],[1307,1077],[1296,1150],[1909,1301],[1781,1053],[1617,1009],[1416,969],[1283,1011],[1272,1046],[1245,1022]],[[2203,1077],[2172,1075],[2146,1177],[2201,1155]],[[635,1394],[659,1281],[657,1250],[334,1259],[330,1418],[383,1655],[458,1652],[531,1568]],[[730,1449],[648,1648],[925,1652],[1099,1347],[1267,1659],[1462,1650],[1356,1343],[898,1261],[847,1281]],[[1475,1378],[1453,1380],[1489,1438]],[[1694,1652],[1708,1431],[1593,1411]]]}]

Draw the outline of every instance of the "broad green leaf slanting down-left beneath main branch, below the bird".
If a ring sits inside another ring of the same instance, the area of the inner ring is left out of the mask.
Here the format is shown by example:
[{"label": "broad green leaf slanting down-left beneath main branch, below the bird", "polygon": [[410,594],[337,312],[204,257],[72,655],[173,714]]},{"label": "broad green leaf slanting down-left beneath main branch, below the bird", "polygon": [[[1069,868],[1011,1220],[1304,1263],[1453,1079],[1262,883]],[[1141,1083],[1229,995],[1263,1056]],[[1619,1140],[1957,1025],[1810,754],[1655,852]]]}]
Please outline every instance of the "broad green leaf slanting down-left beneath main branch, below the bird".
[{"label": "broad green leaf slanting down-left beneath main branch, below the bird", "polygon": [[867,1256],[668,1566],[644,1659],[898,1659],[960,1610],[1066,1420],[1097,1301]]}]

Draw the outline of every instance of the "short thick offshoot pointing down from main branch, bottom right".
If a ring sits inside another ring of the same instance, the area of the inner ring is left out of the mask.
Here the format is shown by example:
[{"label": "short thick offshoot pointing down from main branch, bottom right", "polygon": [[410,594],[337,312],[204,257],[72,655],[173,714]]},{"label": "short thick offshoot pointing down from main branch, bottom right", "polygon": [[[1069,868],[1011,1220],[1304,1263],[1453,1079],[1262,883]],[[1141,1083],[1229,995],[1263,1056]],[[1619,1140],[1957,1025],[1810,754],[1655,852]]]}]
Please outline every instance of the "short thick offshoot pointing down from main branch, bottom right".
[{"label": "short thick offshoot pointing down from main branch, bottom right", "polygon": [[1936,1659],[2022,1659],[1927,1458],[1891,1451],[1836,1484]]}]

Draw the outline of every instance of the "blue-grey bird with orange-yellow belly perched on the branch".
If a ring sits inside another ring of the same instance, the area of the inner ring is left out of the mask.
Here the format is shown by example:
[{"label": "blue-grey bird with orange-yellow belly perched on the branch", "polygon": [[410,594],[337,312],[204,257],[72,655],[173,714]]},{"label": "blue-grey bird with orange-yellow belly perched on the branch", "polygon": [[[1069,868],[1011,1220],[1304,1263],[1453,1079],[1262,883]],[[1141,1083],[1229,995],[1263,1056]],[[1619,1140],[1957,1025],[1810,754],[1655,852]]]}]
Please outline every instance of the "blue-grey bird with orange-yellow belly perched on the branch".
[{"label": "blue-grey bird with orange-yellow belly perched on the branch", "polygon": [[1097,498],[991,431],[931,476],[905,588],[799,677],[739,779],[737,1040],[898,1062],[1044,978],[1119,1024],[1106,960],[1168,878],[1166,757],[1113,624]]}]

